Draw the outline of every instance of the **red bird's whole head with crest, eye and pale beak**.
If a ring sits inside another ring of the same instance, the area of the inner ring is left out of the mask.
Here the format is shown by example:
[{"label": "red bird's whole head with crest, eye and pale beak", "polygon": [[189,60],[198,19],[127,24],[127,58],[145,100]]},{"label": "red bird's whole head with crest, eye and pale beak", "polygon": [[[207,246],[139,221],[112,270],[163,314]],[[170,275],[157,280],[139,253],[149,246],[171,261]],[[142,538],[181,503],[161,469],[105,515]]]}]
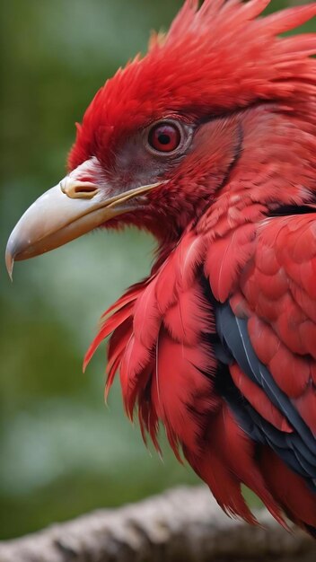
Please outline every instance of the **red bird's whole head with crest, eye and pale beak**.
[{"label": "red bird's whole head with crest, eye and pale beak", "polygon": [[256,160],[256,146],[268,145],[268,119],[259,125],[248,112],[276,102],[293,110],[315,92],[314,41],[277,37],[310,19],[315,4],[258,17],[267,4],[186,0],[170,31],[152,36],[145,57],[101,87],[77,124],[66,177],[11,234],[10,273],[14,259],[100,226],[135,224],[162,244],[176,243],[241,153]]}]

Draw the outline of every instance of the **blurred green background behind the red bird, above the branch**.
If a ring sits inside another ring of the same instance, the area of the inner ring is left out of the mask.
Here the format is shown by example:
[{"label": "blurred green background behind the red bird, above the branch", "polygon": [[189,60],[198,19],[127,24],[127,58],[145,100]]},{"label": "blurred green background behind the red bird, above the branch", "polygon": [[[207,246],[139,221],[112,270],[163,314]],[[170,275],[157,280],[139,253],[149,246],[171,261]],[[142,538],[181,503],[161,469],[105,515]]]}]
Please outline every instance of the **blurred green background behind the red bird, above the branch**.
[{"label": "blurred green background behind the red bird, above the branch", "polygon": [[[25,208],[65,174],[93,94],[181,4],[2,3],[1,256]],[[101,312],[145,276],[153,247],[144,233],[97,232],[17,264],[13,285],[0,268],[1,539],[198,481],[167,447],[163,462],[145,449],[117,384],[104,406],[104,346],[82,373]]]}]

